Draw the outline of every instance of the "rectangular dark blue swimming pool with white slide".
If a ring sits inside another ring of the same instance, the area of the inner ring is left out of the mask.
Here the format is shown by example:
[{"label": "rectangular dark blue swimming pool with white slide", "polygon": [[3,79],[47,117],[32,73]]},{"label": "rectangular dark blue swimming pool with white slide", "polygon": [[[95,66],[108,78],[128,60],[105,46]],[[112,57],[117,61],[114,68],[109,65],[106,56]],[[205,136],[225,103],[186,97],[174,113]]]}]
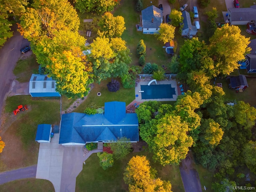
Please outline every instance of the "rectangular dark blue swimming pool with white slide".
[{"label": "rectangular dark blue swimming pool with white slide", "polygon": [[171,84],[140,85],[142,99],[172,99],[176,95],[175,88]]}]

